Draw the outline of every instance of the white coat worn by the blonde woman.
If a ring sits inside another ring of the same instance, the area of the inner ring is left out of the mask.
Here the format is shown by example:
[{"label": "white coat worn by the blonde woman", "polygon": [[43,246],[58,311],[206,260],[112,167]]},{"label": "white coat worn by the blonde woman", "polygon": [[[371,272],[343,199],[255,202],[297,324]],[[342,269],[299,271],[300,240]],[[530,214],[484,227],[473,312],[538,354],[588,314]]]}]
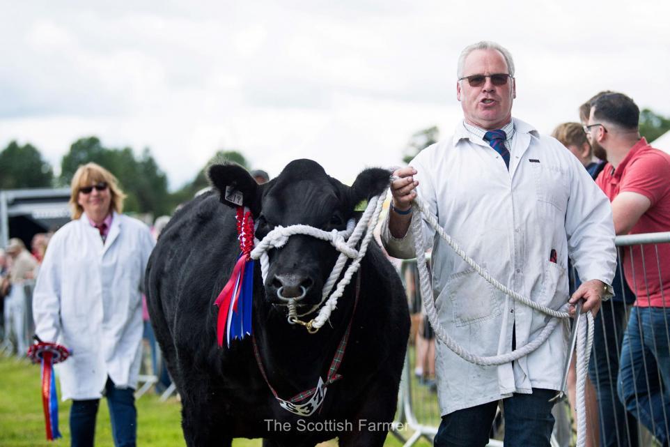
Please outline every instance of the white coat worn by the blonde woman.
[{"label": "white coat worn by the blonde woman", "polygon": [[33,293],[36,334],[72,351],[56,365],[63,400],[102,396],[107,376],[136,388],[144,271],[154,241],[146,225],[114,213],[107,239],[84,213],[49,241]]}]

